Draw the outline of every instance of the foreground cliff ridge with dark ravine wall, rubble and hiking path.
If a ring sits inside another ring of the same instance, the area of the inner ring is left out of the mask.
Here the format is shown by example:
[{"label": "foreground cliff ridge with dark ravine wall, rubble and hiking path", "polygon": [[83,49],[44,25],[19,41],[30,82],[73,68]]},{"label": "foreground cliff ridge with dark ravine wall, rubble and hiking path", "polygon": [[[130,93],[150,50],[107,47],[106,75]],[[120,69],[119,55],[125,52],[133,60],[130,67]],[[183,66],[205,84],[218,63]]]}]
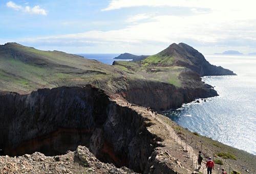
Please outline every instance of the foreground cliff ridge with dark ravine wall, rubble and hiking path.
[{"label": "foreground cliff ridge with dark ravine wall, rubble and hiking path", "polygon": [[247,166],[254,172],[255,156],[195,135],[121,97],[111,100],[90,85],[1,93],[0,111],[1,173],[199,173],[195,157],[201,144],[208,154],[236,155],[237,160],[225,160],[231,169]]}]

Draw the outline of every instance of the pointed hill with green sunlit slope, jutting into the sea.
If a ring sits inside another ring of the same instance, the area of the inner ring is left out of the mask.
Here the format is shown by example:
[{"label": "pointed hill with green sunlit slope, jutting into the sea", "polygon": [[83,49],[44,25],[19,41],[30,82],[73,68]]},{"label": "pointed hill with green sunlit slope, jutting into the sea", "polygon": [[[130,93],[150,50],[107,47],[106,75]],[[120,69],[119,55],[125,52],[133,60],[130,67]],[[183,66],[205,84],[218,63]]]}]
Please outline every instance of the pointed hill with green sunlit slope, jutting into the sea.
[{"label": "pointed hill with green sunlit slope, jutting into the sea", "polygon": [[115,61],[113,64],[135,77],[177,87],[198,87],[199,76],[234,75],[228,69],[211,65],[201,53],[185,43],[173,43],[139,62]]}]

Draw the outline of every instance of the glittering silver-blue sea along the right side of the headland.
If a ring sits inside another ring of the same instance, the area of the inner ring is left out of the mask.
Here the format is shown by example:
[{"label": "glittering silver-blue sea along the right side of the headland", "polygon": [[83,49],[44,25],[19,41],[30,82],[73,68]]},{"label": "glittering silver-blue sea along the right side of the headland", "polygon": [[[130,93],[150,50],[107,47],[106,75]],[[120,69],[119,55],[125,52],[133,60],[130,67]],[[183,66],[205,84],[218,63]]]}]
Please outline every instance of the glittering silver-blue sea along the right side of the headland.
[{"label": "glittering silver-blue sea along the right side of the headland", "polygon": [[190,131],[256,155],[256,57],[206,56],[238,76],[208,76],[219,96],[164,114]]}]

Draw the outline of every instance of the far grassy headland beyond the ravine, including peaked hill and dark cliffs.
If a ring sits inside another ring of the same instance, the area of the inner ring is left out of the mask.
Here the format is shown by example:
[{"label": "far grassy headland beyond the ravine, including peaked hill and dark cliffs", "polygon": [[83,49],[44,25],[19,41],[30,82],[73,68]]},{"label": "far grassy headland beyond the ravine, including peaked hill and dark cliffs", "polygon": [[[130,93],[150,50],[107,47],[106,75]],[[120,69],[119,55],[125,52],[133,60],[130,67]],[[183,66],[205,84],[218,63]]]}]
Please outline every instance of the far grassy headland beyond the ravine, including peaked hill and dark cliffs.
[{"label": "far grassy headland beyond the ravine, including peaked hill and dark cliffs", "polygon": [[[58,51],[40,51],[17,43],[0,45],[0,91],[30,93],[39,88],[92,84],[115,98],[155,110],[180,107],[198,97],[216,96],[200,76],[233,74],[210,65],[201,53],[172,44],[141,61],[106,65]],[[168,89],[168,90],[166,90]]]}]

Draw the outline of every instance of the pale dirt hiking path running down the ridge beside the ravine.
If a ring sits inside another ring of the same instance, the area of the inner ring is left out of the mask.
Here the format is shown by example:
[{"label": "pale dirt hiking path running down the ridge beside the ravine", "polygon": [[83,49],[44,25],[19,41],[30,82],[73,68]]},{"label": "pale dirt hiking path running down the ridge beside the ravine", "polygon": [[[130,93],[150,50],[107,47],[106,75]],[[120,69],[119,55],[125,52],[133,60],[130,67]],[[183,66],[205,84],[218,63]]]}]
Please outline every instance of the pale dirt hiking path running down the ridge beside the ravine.
[{"label": "pale dirt hiking path running down the ridge beside the ravine", "polygon": [[[154,123],[154,126],[151,126],[148,129],[152,133],[160,137],[164,137],[165,148],[162,151],[163,153],[167,153],[170,158],[179,161],[182,167],[193,171],[194,173],[207,173],[207,168],[205,167],[207,159],[204,158],[201,168],[197,170],[199,167],[197,164],[199,150],[191,146],[190,142],[186,142],[186,138],[182,137],[178,132],[175,131],[173,127],[177,126],[176,123],[171,121],[166,116],[157,114],[149,108],[133,105],[127,103],[126,101],[118,100],[117,98],[115,101],[121,106],[129,107],[135,110],[140,115],[150,119]],[[219,165],[216,165],[215,169],[212,170],[212,174],[217,173],[221,173],[221,170],[219,170]]]}]

